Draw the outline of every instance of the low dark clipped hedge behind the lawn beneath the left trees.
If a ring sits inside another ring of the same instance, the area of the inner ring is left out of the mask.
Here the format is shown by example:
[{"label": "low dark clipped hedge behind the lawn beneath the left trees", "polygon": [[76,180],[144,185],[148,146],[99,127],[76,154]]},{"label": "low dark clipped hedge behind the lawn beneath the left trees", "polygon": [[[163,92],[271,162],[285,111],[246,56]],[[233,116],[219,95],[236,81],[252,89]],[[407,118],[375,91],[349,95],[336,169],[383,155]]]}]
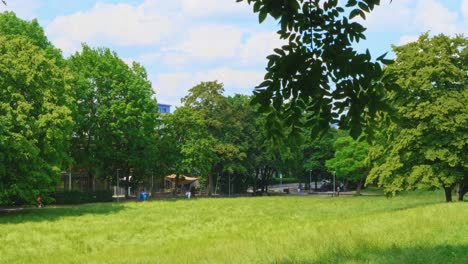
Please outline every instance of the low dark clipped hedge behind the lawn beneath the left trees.
[{"label": "low dark clipped hedge behind the lawn beneath the left trees", "polygon": [[112,191],[58,191],[53,195],[56,204],[112,202]]}]

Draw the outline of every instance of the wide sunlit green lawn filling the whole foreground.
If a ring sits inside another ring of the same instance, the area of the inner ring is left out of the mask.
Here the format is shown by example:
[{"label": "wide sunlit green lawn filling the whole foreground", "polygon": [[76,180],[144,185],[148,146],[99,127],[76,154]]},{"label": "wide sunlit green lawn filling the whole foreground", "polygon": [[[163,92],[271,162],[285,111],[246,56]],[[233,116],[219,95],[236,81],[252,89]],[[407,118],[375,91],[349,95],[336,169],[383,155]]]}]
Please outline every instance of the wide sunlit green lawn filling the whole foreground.
[{"label": "wide sunlit green lawn filling the whole foreground", "polygon": [[0,214],[0,263],[468,263],[468,203],[259,197]]}]

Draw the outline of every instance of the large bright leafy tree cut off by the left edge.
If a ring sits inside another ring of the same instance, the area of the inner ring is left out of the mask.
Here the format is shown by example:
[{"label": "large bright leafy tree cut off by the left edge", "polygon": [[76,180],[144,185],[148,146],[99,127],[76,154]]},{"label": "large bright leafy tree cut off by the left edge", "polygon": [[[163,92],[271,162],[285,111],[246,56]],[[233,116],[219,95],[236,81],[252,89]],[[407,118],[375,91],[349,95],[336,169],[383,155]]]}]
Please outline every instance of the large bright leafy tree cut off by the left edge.
[{"label": "large bright leafy tree cut off by the left edge", "polygon": [[0,35],[0,203],[47,198],[67,160],[71,76],[35,44]]}]

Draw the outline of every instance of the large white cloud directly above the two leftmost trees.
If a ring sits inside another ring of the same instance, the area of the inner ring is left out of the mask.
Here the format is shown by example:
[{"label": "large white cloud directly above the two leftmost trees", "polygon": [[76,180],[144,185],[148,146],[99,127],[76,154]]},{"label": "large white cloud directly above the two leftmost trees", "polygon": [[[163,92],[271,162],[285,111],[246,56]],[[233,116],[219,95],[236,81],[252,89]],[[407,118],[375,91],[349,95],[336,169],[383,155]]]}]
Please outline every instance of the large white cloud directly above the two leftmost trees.
[{"label": "large white cloud directly above the two leftmost trees", "polygon": [[55,18],[47,34],[59,48],[71,53],[81,42],[99,46],[157,44],[171,33],[171,26],[169,17],[145,10],[144,5],[97,3],[89,11]]}]

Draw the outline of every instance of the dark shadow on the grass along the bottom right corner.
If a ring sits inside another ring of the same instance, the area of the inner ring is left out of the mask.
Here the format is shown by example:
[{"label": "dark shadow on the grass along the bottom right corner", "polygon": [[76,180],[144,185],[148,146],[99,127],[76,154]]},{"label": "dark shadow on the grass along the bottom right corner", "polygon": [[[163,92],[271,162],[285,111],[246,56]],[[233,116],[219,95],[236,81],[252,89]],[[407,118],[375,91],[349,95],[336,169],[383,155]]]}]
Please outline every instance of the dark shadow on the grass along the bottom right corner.
[{"label": "dark shadow on the grass along the bottom right corner", "polygon": [[426,263],[468,263],[468,245],[436,245],[398,247],[381,250],[366,248],[360,252],[334,250],[330,254],[320,256],[318,259],[300,259],[290,257],[273,263],[384,263],[384,264],[426,264]]}]

